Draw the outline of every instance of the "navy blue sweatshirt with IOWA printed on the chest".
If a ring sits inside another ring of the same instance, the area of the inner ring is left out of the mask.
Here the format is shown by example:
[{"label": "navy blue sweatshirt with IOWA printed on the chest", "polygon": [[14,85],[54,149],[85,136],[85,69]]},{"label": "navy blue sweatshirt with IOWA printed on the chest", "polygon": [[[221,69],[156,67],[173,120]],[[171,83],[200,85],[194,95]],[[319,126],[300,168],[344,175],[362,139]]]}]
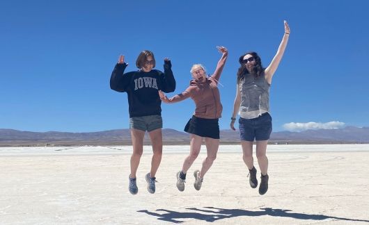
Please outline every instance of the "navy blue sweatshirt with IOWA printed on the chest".
[{"label": "navy blue sweatshirt with IOWA printed on the chest", "polygon": [[124,74],[127,63],[116,64],[110,78],[110,88],[117,92],[127,92],[129,117],[162,115],[162,101],[158,90],[174,92],[175,79],[171,64],[164,64],[164,73],[152,69],[150,72],[141,70]]}]

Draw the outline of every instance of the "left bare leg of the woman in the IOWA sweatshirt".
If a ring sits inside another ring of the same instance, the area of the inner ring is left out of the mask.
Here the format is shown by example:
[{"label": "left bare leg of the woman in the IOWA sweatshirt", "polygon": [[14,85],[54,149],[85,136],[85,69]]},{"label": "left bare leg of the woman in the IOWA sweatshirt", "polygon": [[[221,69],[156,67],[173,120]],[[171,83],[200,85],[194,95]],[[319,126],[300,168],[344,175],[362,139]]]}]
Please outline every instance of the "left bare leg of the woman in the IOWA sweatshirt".
[{"label": "left bare leg of the woman in the IOWA sweatshirt", "polygon": [[135,128],[131,129],[131,138],[133,145],[133,153],[131,156],[131,174],[129,175],[131,178],[136,178],[137,168],[140,164],[140,159],[143,151],[143,136],[145,135],[145,131],[141,131]]}]

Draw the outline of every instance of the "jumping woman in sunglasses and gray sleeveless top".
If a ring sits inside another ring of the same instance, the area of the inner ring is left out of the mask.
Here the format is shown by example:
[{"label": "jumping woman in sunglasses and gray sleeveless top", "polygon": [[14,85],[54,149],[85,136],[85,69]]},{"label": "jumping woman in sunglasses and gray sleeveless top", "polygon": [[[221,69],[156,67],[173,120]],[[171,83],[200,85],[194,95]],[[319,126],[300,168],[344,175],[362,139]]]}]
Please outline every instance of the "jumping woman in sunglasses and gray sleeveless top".
[{"label": "jumping woman in sunglasses and gray sleeveless top", "polygon": [[[290,28],[284,22],[285,33],[278,47],[276,56],[267,68],[263,68],[256,52],[245,53],[239,58],[240,68],[237,72],[237,92],[230,128],[235,131],[236,114],[240,115],[239,128],[243,151],[243,160],[249,169],[251,188],[258,186],[256,168],[253,166],[253,141],[256,140],[256,158],[261,171],[259,194],[268,190],[267,144],[272,133],[272,117],[269,114],[269,88],[272,77],[283,57],[290,36]],[[248,176],[249,176],[248,175]]]}]

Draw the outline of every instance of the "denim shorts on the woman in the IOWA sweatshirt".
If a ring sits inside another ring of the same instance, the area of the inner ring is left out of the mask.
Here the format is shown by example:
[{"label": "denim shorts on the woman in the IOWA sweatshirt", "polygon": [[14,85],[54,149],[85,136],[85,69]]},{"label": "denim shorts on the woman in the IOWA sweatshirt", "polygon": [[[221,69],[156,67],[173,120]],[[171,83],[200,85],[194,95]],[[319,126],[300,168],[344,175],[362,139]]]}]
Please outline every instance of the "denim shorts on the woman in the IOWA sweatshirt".
[{"label": "denim shorts on the woman in the IOWA sweatshirt", "polygon": [[148,132],[154,131],[158,128],[163,128],[163,119],[160,115],[131,117],[129,118],[129,128]]}]

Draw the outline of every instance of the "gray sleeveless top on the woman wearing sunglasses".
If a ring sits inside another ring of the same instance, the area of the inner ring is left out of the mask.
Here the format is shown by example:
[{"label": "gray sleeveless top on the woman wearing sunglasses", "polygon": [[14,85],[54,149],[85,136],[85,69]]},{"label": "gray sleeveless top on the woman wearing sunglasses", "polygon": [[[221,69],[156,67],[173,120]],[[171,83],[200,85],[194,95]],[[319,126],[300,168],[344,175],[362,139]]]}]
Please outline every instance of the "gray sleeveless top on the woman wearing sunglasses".
[{"label": "gray sleeveless top on the woman wearing sunglasses", "polygon": [[241,92],[240,117],[251,119],[269,112],[270,85],[265,80],[265,73],[262,73],[258,78],[246,74],[244,80],[239,84],[239,88]]}]

